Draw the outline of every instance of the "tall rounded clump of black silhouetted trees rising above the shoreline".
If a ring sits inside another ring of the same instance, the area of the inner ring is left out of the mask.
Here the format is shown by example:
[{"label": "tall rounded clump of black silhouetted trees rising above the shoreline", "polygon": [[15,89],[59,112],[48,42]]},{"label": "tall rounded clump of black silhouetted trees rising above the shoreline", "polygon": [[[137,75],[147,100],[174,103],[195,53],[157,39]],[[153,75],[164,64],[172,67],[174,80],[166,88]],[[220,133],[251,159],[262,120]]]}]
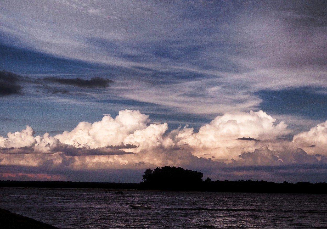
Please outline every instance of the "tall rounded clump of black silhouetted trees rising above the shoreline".
[{"label": "tall rounded clump of black silhouetted trees rising above the shoreline", "polygon": [[182,167],[165,166],[146,169],[141,187],[159,190],[200,190],[203,173],[183,169]]}]

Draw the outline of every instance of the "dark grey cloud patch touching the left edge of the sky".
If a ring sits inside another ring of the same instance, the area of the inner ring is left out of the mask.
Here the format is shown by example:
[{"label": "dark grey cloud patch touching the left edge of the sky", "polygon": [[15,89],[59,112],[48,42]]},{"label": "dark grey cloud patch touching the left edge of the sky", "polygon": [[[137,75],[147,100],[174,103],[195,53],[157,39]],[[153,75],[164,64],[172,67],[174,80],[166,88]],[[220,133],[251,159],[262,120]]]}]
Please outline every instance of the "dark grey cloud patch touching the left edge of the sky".
[{"label": "dark grey cloud patch touching the left edge of the sky", "polygon": [[22,86],[19,85],[21,76],[7,71],[0,72],[0,96],[20,95]]}]

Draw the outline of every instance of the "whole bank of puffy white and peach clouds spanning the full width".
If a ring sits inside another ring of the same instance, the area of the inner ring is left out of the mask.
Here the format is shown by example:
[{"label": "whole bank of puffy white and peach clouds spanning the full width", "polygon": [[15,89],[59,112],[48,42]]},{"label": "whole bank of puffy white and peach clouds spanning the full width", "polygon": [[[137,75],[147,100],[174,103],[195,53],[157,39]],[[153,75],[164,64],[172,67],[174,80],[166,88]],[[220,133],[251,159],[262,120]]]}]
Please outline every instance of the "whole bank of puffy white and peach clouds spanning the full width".
[{"label": "whole bank of puffy white and peach clouds spanning the full width", "polygon": [[115,118],[104,115],[94,123],[80,122],[55,136],[34,136],[29,126],[9,132],[0,137],[0,165],[52,171],[168,165],[197,168],[214,177],[216,171],[232,168],[326,166],[327,153],[322,150],[327,144],[326,123],[287,141],[283,138],[290,133],[287,125],[263,111],[226,113],[198,132],[187,126],[168,132],[167,123],[151,123],[140,111],[122,110]]}]

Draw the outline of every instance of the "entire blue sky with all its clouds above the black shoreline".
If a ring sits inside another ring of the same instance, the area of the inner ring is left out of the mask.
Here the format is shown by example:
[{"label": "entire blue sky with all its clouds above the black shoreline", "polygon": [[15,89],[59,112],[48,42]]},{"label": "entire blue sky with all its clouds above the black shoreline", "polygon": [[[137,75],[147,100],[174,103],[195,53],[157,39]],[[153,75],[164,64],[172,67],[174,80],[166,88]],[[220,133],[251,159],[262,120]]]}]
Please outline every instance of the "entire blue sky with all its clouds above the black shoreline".
[{"label": "entire blue sky with all its clouds above the black shoreline", "polygon": [[327,182],[327,2],[0,0],[0,179]]}]

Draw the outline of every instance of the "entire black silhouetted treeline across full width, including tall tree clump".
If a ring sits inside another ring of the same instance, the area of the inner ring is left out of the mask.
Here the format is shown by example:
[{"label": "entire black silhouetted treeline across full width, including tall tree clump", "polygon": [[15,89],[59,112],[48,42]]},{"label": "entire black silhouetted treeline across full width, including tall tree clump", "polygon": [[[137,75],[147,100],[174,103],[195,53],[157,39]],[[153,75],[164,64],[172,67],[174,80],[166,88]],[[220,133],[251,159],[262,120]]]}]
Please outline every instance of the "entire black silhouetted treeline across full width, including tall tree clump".
[{"label": "entire black silhouetted treeline across full width, including tall tree clump", "polygon": [[170,191],[211,192],[264,192],[264,193],[324,193],[327,183],[298,182],[296,184],[267,181],[202,181],[203,174],[181,167],[147,169],[141,183],[69,182],[69,181],[1,181],[0,187],[33,188],[94,188],[94,189],[141,189]]}]

